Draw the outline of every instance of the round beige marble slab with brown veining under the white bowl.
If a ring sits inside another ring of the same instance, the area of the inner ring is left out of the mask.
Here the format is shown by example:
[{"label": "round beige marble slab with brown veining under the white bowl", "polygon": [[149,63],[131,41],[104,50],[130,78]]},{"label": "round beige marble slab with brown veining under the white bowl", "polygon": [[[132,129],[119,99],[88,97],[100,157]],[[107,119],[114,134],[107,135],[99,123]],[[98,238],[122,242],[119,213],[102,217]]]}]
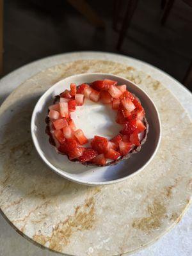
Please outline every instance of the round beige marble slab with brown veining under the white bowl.
[{"label": "round beige marble slab with brown veining under the white bowl", "polygon": [[[96,188],[69,182],[49,170],[33,147],[30,119],[36,100],[57,81],[83,72],[126,77],[159,110],[163,134],[157,155],[124,182]],[[99,60],[48,68],[6,99],[0,118],[1,211],[19,232],[51,250],[70,255],[131,253],[156,241],[189,204],[191,122],[172,93],[140,70]]]}]

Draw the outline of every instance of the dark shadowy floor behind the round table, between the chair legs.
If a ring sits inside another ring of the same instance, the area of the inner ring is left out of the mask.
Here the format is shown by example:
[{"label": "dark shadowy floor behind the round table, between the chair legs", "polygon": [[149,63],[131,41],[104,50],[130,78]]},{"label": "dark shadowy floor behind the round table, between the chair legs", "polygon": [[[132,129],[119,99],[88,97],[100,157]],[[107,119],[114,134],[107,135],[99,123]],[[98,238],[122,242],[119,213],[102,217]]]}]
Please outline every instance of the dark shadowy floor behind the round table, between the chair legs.
[{"label": "dark shadowy floor behind the round table, between the chair legs", "polygon": [[[61,52],[116,52],[113,1],[88,2],[104,19],[105,29],[94,28],[67,1],[4,1],[4,74]],[[160,0],[139,1],[120,53],[182,81],[192,59],[192,8],[176,0],[164,26],[161,14]]]}]

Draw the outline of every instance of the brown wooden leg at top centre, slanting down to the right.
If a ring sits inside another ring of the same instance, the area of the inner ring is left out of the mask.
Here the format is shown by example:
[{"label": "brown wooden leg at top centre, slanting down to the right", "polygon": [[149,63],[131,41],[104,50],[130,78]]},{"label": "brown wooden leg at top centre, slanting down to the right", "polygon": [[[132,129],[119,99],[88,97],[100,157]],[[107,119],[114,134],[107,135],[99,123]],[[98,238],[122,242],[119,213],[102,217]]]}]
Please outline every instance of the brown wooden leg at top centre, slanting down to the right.
[{"label": "brown wooden leg at top centre, slanting down to the right", "polygon": [[90,4],[85,0],[67,0],[78,12],[80,12],[86,19],[88,19],[93,26],[104,28],[104,21],[92,9]]}]

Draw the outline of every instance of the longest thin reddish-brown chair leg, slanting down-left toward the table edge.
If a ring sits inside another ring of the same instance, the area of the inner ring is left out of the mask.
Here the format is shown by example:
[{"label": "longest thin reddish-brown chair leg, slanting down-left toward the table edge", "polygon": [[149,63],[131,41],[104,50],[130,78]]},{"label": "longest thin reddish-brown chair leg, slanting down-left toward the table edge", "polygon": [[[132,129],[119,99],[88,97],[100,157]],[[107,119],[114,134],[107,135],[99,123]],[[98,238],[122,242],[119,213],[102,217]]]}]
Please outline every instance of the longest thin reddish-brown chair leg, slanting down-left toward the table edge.
[{"label": "longest thin reddish-brown chair leg, slanting down-left toward the table edge", "polygon": [[120,35],[118,38],[118,43],[116,45],[116,49],[120,50],[122,43],[124,41],[126,31],[129,28],[129,24],[131,22],[132,15],[136,9],[136,6],[138,5],[138,0],[129,0],[127,4],[127,10],[125,13],[125,17],[123,20],[122,28],[120,29]]}]

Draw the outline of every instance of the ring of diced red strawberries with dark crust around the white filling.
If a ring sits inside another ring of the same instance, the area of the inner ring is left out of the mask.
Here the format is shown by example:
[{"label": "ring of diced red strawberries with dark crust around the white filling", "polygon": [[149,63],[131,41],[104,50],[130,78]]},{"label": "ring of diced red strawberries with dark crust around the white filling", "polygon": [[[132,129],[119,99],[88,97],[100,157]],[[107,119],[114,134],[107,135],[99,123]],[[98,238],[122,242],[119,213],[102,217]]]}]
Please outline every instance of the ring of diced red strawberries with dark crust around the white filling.
[{"label": "ring of diced red strawberries with dark crust around the white filling", "polygon": [[[95,134],[88,140],[86,131],[76,127],[72,113],[83,108],[86,100],[109,104],[116,112],[116,123],[121,125],[121,129],[115,137]],[[49,106],[46,123],[49,141],[58,154],[65,154],[70,161],[86,165],[107,166],[129,158],[140,151],[148,133],[148,122],[140,100],[127,90],[125,84],[118,85],[109,79],[78,86],[70,84],[70,90],[56,95],[52,106]]]}]

